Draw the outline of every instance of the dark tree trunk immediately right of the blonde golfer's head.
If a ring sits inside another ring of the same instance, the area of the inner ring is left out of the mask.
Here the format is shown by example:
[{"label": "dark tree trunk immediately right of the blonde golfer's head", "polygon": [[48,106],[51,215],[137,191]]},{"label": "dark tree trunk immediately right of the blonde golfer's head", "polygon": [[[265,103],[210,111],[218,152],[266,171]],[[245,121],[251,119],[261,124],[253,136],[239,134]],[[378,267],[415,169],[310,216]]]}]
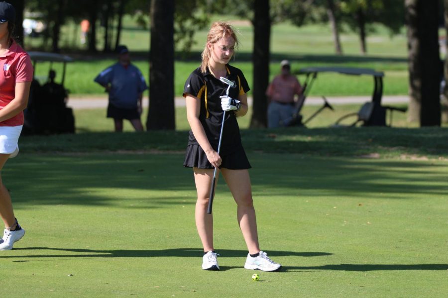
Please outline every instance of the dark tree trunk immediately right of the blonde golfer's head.
[{"label": "dark tree trunk immediately right of the blonde golfer's head", "polygon": [[253,23],[253,114],[251,128],[267,126],[266,88],[269,84],[271,19],[269,0],[254,1]]}]

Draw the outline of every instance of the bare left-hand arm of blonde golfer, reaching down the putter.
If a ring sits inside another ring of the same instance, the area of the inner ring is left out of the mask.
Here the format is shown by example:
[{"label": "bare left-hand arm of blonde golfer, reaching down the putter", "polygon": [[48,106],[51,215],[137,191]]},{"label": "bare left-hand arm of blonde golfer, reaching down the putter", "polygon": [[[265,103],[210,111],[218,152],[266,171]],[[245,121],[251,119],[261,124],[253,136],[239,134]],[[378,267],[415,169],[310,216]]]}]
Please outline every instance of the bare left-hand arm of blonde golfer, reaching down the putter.
[{"label": "bare left-hand arm of blonde golfer, reaching down the putter", "polygon": [[210,145],[209,140],[207,139],[206,133],[204,131],[204,127],[199,121],[199,113],[201,111],[201,101],[196,96],[192,96],[191,94],[187,94],[186,98],[187,104],[187,120],[190,124],[191,131],[198,141],[199,146],[204,150],[204,152],[210,152],[213,150],[212,145]]}]

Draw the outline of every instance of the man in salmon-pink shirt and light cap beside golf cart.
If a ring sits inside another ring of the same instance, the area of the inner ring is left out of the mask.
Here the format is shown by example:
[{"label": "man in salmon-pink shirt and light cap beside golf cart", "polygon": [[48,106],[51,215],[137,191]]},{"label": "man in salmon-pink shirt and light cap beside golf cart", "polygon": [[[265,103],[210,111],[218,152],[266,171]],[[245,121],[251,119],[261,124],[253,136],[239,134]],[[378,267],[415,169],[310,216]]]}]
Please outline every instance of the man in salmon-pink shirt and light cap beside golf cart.
[{"label": "man in salmon-pink shirt and light cap beside golf cart", "polygon": [[283,122],[295,113],[295,95],[302,93],[299,80],[291,74],[289,61],[283,60],[280,66],[281,74],[274,77],[266,90],[269,128],[284,126]]}]

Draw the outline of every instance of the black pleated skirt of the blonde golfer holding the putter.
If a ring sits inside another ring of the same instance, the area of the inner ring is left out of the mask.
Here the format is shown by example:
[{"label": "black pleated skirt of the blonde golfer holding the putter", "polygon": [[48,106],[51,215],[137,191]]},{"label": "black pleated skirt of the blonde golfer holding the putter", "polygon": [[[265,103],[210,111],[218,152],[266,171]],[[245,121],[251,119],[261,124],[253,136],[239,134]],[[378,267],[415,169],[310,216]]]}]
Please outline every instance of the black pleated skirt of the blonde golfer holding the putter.
[{"label": "black pleated skirt of the blonde golfer holding the putter", "polygon": [[[220,168],[226,168],[229,170],[245,170],[251,168],[246,152],[244,152],[244,148],[242,146],[239,146],[239,148],[234,152],[226,155],[220,155],[223,159]],[[189,145],[187,147],[184,166],[197,167],[200,169],[213,169],[212,164],[207,159],[206,153],[199,145]]]}]

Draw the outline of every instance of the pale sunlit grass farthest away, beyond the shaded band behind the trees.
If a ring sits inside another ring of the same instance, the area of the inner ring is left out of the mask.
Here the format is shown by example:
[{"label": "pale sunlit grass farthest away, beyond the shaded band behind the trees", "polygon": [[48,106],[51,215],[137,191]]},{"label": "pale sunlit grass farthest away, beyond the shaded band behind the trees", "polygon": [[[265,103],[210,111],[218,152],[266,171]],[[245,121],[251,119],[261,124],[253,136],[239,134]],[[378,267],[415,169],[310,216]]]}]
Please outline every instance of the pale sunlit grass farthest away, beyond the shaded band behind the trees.
[{"label": "pale sunlit grass farthest away, beyond the shaded band behind the trees", "polygon": [[[149,19],[146,18],[147,24]],[[213,15],[213,21],[228,21],[233,24],[239,32],[238,38],[242,41],[241,52],[249,53],[252,51],[253,28],[249,20],[238,18],[233,15]],[[370,32],[367,37],[368,54],[372,56],[385,57],[405,57],[406,56],[406,32],[403,30],[397,35],[391,35],[390,32],[381,24],[372,26],[374,32]],[[204,48],[208,33],[208,27],[196,31],[194,34],[193,52],[201,52]],[[83,51],[87,49],[87,44],[81,44],[79,38],[79,24],[67,22],[62,26],[62,33],[59,46],[68,52]],[[103,26],[97,26],[97,49],[102,51],[104,48]],[[113,33],[114,34],[114,33]],[[345,55],[359,56],[360,45],[357,34],[344,28],[340,32],[342,50]],[[136,15],[125,15],[123,18],[123,29],[121,32],[121,43],[126,44],[130,49],[136,52],[147,52],[150,45],[149,27],[142,28],[137,25]],[[39,48],[43,46],[43,38],[25,37],[28,48]],[[49,46],[49,44],[47,44]],[[176,45],[180,50],[182,43]],[[328,24],[311,24],[297,27],[289,22],[276,23],[271,28],[271,51],[273,54],[309,54],[333,55],[335,53],[332,31]]]}]

